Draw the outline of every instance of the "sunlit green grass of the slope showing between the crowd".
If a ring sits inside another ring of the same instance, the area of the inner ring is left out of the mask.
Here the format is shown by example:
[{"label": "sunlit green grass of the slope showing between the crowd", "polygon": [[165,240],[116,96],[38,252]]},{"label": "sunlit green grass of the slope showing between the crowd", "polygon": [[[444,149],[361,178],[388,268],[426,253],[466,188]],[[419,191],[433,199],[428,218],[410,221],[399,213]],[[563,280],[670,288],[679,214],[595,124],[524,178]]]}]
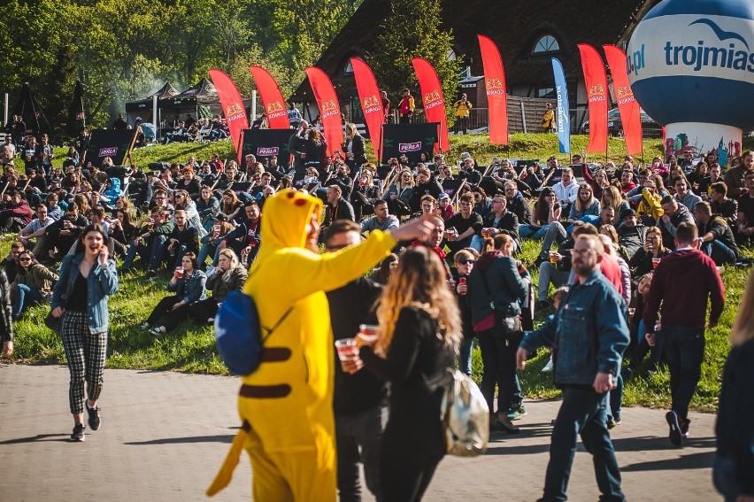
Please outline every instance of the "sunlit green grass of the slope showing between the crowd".
[{"label": "sunlit green grass of the slope showing between the crowd", "polygon": [[[557,151],[555,135],[512,135],[510,150],[501,151],[499,147],[489,145],[486,135],[451,136],[451,157],[455,158],[461,151],[470,151],[482,162],[488,162],[495,155],[519,158],[547,158],[552,151]],[[576,136],[573,151],[580,151],[577,146],[586,144],[586,136]],[[618,140],[611,140],[613,159],[622,158],[625,151],[620,150]],[[647,142],[645,147],[659,151],[659,141]],[[754,147],[752,138],[744,141],[744,150]],[[171,144],[167,146],[139,149],[134,152],[135,162],[146,165],[157,160],[185,161],[189,155],[197,158],[209,158],[212,151],[218,151],[222,158],[232,156],[229,142],[205,144]],[[367,148],[367,151],[369,149]],[[65,151],[59,151],[58,162]],[[5,256],[11,240],[0,241],[0,253]],[[521,259],[529,266],[534,280],[537,270],[531,264],[539,251],[539,243],[527,241],[521,253]],[[754,252],[746,251],[747,256],[754,257]],[[722,274],[725,282],[726,308],[719,326],[708,330],[705,348],[702,380],[698,385],[692,408],[714,412],[717,409],[720,377],[723,364],[730,349],[727,336],[733,324],[735,312],[741,300],[742,290],[749,278],[748,269],[726,267]],[[120,278],[120,290],[111,299],[111,330],[109,343],[108,367],[175,370],[189,373],[225,374],[225,367],[220,361],[214,347],[212,328],[196,328],[183,323],[179,328],[164,336],[155,337],[142,333],[139,324],[149,315],[153,305],[165,295],[167,275],[155,280],[143,277],[143,274],[126,275]],[[16,352],[14,358],[28,364],[65,364],[63,346],[58,336],[44,328],[42,320],[47,307],[38,306],[28,311],[26,318],[16,324]],[[543,321],[544,311],[537,315],[536,322]],[[547,351],[540,351],[531,359],[527,369],[520,374],[525,394],[532,398],[554,398],[559,391],[552,384],[552,374],[541,372],[549,358]],[[479,349],[474,349],[473,376],[481,379],[481,357]],[[670,403],[668,392],[668,375],[665,368],[660,368],[657,375],[649,379],[634,378],[626,382],[624,403],[626,405],[646,405],[667,407]]]}]

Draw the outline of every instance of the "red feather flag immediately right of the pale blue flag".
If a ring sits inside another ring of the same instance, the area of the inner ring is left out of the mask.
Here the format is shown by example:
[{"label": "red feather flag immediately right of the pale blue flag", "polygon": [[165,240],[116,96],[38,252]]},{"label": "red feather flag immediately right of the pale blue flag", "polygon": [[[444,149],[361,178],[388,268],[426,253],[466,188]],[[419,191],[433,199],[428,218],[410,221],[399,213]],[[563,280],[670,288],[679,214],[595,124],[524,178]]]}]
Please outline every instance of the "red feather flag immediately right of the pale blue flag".
[{"label": "red feather flag immediately right of the pale blue flag", "polygon": [[587,151],[607,151],[607,74],[604,63],[594,47],[586,43],[579,44],[581,68],[589,98],[589,146]]}]

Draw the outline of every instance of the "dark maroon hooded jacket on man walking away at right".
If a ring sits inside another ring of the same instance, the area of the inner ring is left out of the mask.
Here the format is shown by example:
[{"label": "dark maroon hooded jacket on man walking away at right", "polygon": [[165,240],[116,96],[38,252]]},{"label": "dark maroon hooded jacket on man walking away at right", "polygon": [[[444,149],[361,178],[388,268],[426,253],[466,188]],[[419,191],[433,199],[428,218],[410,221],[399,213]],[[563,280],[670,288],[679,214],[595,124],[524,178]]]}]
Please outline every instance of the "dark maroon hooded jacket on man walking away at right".
[{"label": "dark maroon hooded jacket on man walking away at right", "polygon": [[666,326],[704,329],[708,297],[712,301],[710,322],[717,324],[725,305],[725,286],[715,262],[698,250],[673,252],[655,269],[644,305],[644,326],[651,329],[661,312]]}]

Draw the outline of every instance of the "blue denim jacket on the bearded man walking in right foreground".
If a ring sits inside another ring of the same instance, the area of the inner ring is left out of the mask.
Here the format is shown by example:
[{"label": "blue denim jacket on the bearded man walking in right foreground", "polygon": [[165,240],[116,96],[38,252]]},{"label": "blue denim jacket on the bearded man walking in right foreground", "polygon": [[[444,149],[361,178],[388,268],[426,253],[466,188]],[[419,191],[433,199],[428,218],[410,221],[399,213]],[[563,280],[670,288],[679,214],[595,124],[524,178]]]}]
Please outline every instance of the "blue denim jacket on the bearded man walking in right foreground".
[{"label": "blue denim jacket on the bearded man walking in right foreground", "polygon": [[628,345],[627,306],[618,290],[596,270],[575,284],[558,312],[542,328],[527,332],[521,348],[556,348],[555,383],[588,385],[597,373],[618,375]]}]

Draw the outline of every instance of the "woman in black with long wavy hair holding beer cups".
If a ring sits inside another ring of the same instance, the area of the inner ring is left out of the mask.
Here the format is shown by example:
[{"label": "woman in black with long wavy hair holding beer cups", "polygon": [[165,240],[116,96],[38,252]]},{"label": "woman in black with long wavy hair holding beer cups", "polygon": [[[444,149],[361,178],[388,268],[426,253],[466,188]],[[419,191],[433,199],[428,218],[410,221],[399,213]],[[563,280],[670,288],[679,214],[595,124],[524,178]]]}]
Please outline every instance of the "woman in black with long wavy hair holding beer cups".
[{"label": "woman in black with long wavy hair holding beer cups", "polygon": [[373,347],[360,336],[357,343],[366,369],[391,385],[381,491],[385,500],[419,500],[446,452],[440,409],[461,340],[458,305],[434,251],[404,252],[377,317]]}]

